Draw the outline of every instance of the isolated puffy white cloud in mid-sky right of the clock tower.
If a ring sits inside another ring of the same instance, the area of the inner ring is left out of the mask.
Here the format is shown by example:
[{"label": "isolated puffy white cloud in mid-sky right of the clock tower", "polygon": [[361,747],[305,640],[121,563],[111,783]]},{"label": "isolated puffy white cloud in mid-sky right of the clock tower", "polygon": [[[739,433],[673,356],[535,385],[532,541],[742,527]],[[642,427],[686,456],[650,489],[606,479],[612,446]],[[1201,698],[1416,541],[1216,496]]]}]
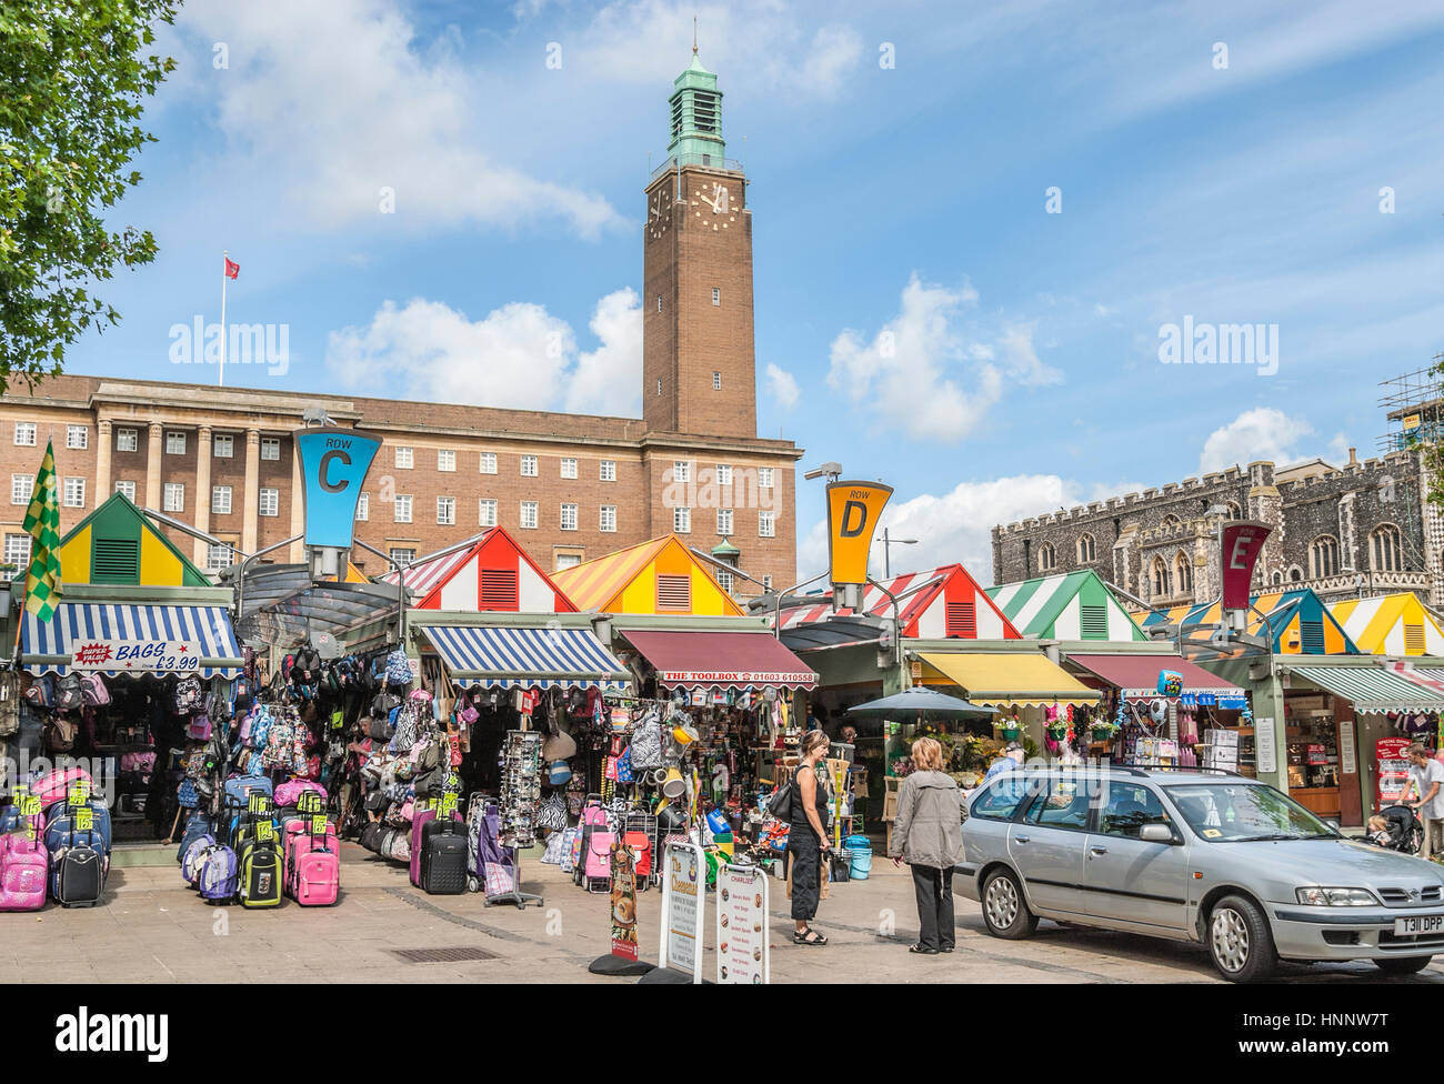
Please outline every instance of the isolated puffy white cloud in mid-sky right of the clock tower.
[{"label": "isolated puffy white cloud in mid-sky right of the clock tower", "polygon": [[978,429],[1009,384],[1063,380],[1038,359],[1031,325],[1009,325],[991,344],[969,342],[957,323],[976,300],[970,284],[933,286],[914,273],[898,315],[871,342],[851,328],[838,335],[827,384],[861,407],[875,430],[956,443]]}]

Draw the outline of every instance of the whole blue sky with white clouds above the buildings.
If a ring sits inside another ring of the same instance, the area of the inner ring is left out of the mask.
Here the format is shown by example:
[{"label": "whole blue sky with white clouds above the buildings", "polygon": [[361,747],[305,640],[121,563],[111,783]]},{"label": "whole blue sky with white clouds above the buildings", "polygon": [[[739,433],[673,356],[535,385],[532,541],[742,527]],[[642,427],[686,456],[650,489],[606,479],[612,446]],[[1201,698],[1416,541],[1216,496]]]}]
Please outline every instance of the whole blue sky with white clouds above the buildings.
[{"label": "whole blue sky with white clouds above the buildings", "polygon": [[[160,255],[69,368],[214,380],[169,331],[218,319],[228,248],[228,318],[290,344],[228,384],[640,413],[641,189],[696,14],[760,434],[892,484],[895,564],[988,580],[999,520],[1372,453],[1378,381],[1444,349],[1444,7],[1258,9],[195,0],[117,215]],[[1186,316],[1276,325],[1276,371],[1161,364]]]}]

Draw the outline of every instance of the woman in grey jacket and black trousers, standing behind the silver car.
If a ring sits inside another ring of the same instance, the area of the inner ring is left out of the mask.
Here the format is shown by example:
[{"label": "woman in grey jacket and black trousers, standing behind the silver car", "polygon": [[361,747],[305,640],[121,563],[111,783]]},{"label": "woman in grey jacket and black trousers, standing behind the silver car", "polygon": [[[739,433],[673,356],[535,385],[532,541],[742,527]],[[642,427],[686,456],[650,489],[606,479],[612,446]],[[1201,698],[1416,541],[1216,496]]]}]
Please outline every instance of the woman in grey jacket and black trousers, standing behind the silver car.
[{"label": "woman in grey jacket and black trousers, standing behind the silver car", "polygon": [[917,892],[921,932],[908,951],[952,953],[953,867],[963,860],[963,792],[943,772],[943,746],[931,738],[913,742],[914,772],[898,791],[897,820],[888,857],[907,862]]}]

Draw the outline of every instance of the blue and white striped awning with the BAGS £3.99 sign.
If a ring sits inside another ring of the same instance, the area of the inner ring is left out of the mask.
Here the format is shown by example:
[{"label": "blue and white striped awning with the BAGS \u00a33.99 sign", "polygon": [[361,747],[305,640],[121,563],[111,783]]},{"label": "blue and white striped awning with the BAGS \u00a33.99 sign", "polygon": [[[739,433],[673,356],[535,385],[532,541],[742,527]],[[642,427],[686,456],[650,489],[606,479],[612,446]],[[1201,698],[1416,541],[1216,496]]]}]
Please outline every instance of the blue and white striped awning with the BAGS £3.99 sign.
[{"label": "blue and white striped awning with the BAGS \u00a33.99 sign", "polygon": [[[20,622],[20,664],[30,674],[66,674],[77,644],[85,641],[163,641],[196,644],[201,651],[201,677],[237,677],[241,673],[241,647],[224,606],[162,606],[101,602],[62,602],[53,621],[40,621],[23,611]],[[139,667],[118,667],[100,673],[153,673]]]}]

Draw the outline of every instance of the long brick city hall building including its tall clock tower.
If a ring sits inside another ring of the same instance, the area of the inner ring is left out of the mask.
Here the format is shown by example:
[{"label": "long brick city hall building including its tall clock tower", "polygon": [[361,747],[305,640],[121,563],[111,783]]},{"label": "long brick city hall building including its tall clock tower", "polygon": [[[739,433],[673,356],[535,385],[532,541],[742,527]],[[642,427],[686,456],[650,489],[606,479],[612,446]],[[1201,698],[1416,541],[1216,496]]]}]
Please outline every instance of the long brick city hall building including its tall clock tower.
[{"label": "long brick city hall building including its tall clock tower", "polygon": [[[6,566],[29,559],[20,524],[48,440],[62,534],[120,491],[211,536],[169,531],[212,572],[299,536],[292,434],[319,410],[384,440],[357,537],[396,561],[498,524],[546,569],[676,533],[745,573],[721,574],[739,596],[791,585],[801,450],[757,436],[752,212],[742,166],[725,156],[716,84],[693,53],[670,100],[669,160],[645,185],[643,417],[56,377],[0,397]],[[475,364],[481,380],[488,359]],[[274,554],[300,557],[299,543]],[[352,560],[386,572],[360,547]]]}]

